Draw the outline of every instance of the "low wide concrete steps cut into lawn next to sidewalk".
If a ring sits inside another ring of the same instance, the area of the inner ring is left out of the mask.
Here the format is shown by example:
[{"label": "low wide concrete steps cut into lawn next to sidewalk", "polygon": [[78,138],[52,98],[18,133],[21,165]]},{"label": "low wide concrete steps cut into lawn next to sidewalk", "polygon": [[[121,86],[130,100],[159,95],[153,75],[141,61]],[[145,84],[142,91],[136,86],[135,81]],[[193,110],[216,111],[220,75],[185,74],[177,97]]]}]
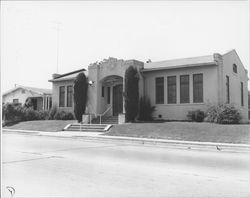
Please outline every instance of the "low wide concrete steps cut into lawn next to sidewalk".
[{"label": "low wide concrete steps cut into lawn next to sidewalk", "polygon": [[110,129],[110,124],[69,124],[64,131],[83,131],[83,132],[106,132]]}]

